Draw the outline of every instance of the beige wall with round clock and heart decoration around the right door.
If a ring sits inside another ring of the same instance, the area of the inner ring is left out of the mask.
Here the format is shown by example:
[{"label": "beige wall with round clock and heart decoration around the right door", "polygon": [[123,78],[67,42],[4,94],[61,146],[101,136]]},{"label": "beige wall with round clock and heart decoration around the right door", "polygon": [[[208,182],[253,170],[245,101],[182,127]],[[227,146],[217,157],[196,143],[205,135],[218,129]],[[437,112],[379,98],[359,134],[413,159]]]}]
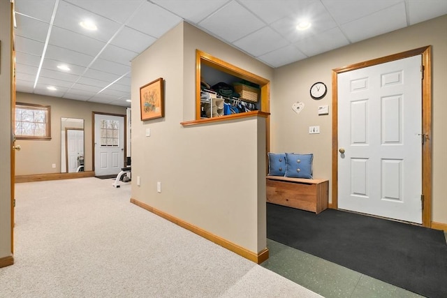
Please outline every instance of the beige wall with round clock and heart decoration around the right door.
[{"label": "beige wall with round clock and heart decoration around the right door", "polygon": [[[425,45],[433,46],[432,221],[447,223],[446,15],[275,69],[270,104],[271,151],[312,152],[314,177],[331,179],[332,69]],[[312,100],[309,88],[318,81],[325,82],[328,94],[322,100]],[[291,110],[297,101],[305,103],[300,114]],[[318,105],[329,105],[330,114],[318,116]],[[321,133],[309,135],[309,126],[320,126]]]}]

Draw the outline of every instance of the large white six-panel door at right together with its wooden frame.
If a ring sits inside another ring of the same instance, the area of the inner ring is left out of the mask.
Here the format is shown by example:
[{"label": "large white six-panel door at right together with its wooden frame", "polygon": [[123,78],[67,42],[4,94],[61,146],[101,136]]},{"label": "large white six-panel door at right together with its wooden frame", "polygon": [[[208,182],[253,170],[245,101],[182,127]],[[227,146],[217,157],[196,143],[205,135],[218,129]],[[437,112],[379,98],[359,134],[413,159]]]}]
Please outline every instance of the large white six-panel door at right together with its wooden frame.
[{"label": "large white six-panel door at right together with its wooden frame", "polygon": [[430,73],[430,47],[332,71],[332,208],[430,226]]}]

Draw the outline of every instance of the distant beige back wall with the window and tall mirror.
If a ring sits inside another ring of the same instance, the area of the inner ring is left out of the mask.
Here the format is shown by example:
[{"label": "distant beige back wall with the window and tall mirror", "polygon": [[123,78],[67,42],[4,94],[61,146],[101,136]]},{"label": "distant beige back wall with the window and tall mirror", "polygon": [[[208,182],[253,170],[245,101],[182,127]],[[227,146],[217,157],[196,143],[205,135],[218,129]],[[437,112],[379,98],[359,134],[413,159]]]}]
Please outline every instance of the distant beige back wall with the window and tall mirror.
[{"label": "distant beige back wall with the window and tall mirror", "polygon": [[[51,106],[51,140],[17,140],[22,150],[15,155],[15,174],[50,174],[61,172],[61,117],[84,119],[85,171],[93,168],[92,112],[126,114],[126,107],[89,103],[52,96],[17,92],[17,103]],[[65,162],[65,161],[64,161]],[[52,164],[56,164],[53,168]]]}]

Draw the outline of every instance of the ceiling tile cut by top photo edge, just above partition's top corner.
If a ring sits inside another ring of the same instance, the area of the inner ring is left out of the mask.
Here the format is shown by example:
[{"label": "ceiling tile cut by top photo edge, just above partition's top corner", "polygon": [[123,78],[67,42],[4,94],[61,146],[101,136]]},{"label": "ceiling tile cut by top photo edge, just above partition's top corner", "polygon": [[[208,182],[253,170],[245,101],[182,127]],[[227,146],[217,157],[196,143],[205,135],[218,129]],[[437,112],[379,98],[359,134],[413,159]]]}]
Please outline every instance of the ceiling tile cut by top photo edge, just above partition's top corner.
[{"label": "ceiling tile cut by top photo edge, just above partition's top corner", "polygon": [[191,22],[200,22],[207,15],[212,14],[215,10],[221,8],[228,0],[152,0],[153,3],[172,11],[179,17]]}]

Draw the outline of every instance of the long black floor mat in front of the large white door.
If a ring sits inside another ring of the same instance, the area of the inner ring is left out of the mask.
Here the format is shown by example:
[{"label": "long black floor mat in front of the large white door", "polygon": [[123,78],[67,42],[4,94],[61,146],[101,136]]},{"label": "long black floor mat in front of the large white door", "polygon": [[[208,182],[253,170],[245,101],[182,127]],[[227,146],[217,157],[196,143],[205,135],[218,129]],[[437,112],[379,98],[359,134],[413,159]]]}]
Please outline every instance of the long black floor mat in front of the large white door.
[{"label": "long black floor mat in front of the large white door", "polygon": [[444,232],[326,209],[267,203],[267,237],[426,297],[447,297]]}]

